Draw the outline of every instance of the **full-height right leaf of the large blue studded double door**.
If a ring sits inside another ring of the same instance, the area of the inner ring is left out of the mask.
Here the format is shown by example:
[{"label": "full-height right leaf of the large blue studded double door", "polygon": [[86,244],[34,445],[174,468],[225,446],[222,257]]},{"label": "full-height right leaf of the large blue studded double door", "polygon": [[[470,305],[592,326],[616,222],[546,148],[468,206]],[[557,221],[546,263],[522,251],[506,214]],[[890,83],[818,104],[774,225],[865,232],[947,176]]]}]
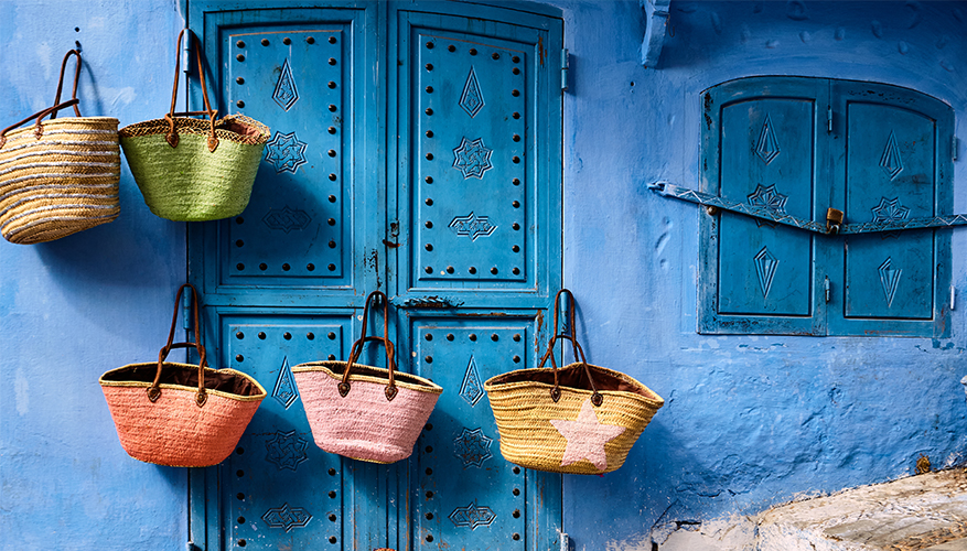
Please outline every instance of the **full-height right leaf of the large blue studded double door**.
[{"label": "full-height right leaf of the large blue studded double door", "polygon": [[422,9],[396,12],[389,253],[405,354],[445,390],[411,461],[412,541],[400,547],[549,549],[560,477],[503,460],[483,381],[535,367],[560,285],[561,21]]}]

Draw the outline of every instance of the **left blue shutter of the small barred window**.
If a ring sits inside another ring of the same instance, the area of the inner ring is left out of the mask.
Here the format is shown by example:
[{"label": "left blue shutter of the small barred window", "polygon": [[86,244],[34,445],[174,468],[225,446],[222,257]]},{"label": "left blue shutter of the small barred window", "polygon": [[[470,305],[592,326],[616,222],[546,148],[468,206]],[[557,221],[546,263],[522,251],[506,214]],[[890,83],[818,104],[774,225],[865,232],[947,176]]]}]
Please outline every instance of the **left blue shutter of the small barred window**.
[{"label": "left blue shutter of the small barred window", "polygon": [[[743,79],[703,95],[701,188],[804,219],[825,216],[826,82]],[[821,334],[816,236],[732,213],[701,215],[703,333]]]}]

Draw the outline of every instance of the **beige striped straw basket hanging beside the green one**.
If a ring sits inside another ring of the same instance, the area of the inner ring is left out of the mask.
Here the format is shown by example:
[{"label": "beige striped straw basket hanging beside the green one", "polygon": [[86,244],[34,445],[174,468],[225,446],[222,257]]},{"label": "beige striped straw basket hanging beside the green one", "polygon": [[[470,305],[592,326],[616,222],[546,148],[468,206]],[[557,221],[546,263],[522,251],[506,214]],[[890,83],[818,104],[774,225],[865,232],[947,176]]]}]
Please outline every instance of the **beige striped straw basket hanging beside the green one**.
[{"label": "beige striped straw basket hanging beside the green one", "polygon": [[[74,93],[62,104],[72,55],[77,56]],[[10,242],[52,241],[118,217],[118,120],[80,116],[79,76],[80,54],[72,50],[61,64],[54,106],[0,131],[0,234]],[[57,119],[67,107],[77,117]],[[32,127],[14,130],[33,119]]]}]

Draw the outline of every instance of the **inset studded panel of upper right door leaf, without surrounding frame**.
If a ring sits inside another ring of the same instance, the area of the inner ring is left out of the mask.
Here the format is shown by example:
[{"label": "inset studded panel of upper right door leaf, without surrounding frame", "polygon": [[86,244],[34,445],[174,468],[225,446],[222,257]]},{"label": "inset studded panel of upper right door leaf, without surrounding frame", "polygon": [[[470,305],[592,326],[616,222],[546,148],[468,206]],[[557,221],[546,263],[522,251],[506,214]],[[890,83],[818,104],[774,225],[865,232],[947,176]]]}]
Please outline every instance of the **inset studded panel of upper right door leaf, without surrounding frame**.
[{"label": "inset studded panel of upper right door leaf, without surrounding frame", "polygon": [[527,52],[466,33],[413,32],[412,278],[426,288],[525,282],[534,209],[524,152]]}]

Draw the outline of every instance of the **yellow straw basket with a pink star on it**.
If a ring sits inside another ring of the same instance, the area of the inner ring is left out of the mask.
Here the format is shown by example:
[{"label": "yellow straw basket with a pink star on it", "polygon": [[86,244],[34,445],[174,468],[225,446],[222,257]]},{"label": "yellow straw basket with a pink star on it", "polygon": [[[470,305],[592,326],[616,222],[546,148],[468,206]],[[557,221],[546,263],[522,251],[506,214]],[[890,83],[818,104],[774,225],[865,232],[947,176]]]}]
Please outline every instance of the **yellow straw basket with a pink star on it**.
[{"label": "yellow straw basket with a pink star on it", "polygon": [[[537,471],[610,473],[624,464],[665,400],[625,374],[588,364],[574,337],[574,296],[567,289],[555,296],[554,331],[563,294],[570,300],[569,333],[550,339],[536,369],[509,371],[484,383],[501,434],[501,454]],[[570,341],[580,361],[558,368],[558,339]],[[550,368],[544,367],[548,359]]]}]

